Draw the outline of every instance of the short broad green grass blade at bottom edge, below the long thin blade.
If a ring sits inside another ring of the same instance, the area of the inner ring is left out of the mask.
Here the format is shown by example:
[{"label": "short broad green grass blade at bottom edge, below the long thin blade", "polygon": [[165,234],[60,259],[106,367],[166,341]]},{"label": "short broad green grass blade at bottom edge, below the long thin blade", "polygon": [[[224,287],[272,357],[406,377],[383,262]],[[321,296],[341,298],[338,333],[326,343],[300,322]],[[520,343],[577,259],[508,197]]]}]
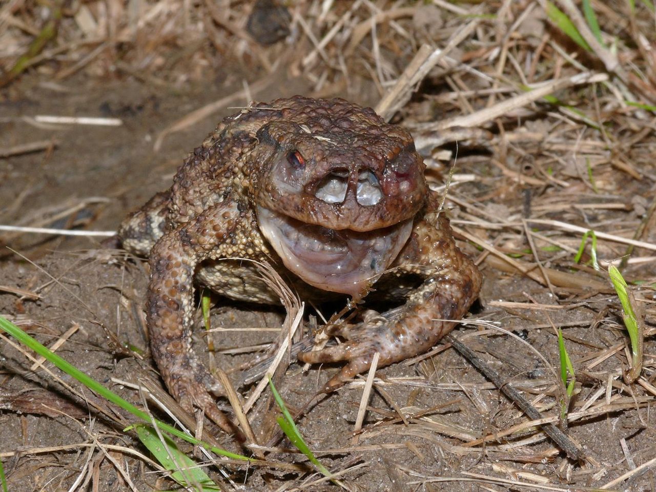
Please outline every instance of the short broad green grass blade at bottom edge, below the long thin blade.
[{"label": "short broad green grass blade at bottom edge, below the long thin blade", "polygon": [[171,478],[180,483],[182,487],[197,492],[220,492],[220,487],[194,460],[182,453],[171,438],[163,436],[164,445],[151,426],[138,424],[134,428],[139,440],[159,461],[159,464],[171,472]]}]

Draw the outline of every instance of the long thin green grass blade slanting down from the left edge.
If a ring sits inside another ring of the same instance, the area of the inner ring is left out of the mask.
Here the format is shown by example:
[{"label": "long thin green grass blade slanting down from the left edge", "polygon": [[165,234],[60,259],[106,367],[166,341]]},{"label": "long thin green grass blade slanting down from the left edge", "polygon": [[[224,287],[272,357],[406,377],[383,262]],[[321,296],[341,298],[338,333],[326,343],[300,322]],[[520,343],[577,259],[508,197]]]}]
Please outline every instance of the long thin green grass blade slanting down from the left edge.
[{"label": "long thin green grass blade slanting down from the left edge", "polygon": [[24,344],[25,346],[27,346],[28,348],[39,354],[40,356],[43,356],[47,360],[51,361],[51,363],[53,363],[56,367],[58,367],[59,369],[61,369],[71,377],[77,379],[79,382],[87,386],[87,388],[89,388],[96,394],[102,396],[102,398],[105,398],[106,400],[111,401],[115,405],[118,405],[125,411],[130,412],[138,419],[144,420],[144,422],[148,424],[154,421],[155,424],[157,424],[157,427],[159,427],[161,430],[168,432],[169,434],[172,434],[173,436],[176,436],[177,438],[183,439],[194,445],[199,445],[204,447],[205,449],[209,449],[210,451],[216,453],[217,455],[226,456],[228,458],[237,459],[237,460],[244,460],[244,461],[249,460],[248,457],[237,455],[236,453],[230,453],[230,451],[226,451],[225,449],[220,449],[219,447],[210,445],[205,441],[201,441],[199,439],[193,438],[189,434],[186,434],[181,430],[178,430],[175,427],[166,424],[165,422],[161,422],[161,420],[153,420],[148,413],[135,407],[129,401],[123,400],[123,398],[121,398],[114,392],[102,386],[102,384],[100,384],[98,381],[87,376],[85,373],[77,369],[77,367],[75,367],[65,359],[62,359],[57,354],[54,354],[54,352],[48,350],[48,348],[41,345],[34,338],[30,337],[30,335],[22,331],[22,329],[14,325],[14,323],[11,323],[9,319],[3,318],[2,316],[0,316],[0,329],[9,333],[9,335],[16,338],[16,340],[18,340],[19,342],[21,342],[22,344]]}]

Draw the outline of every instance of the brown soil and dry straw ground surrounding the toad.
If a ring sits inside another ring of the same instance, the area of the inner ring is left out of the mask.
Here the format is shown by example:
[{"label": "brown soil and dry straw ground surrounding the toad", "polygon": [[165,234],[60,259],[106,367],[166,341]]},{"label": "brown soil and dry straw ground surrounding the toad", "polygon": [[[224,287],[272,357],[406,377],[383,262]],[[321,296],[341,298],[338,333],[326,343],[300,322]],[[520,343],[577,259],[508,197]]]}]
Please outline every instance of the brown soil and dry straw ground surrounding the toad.
[{"label": "brown soil and dry straw ground surrounding the toad", "polygon": [[[342,485],[322,481],[278,436],[268,390],[249,413],[258,442],[270,444],[264,464],[180,449],[223,490],[656,490],[653,0],[5,0],[0,225],[113,231],[169,186],[222,117],[293,94],[372,107],[388,96],[378,109],[413,133],[431,186],[443,192],[453,171],[445,209],[485,277],[455,335],[501,384],[445,342],[377,371],[355,434],[366,375],[310,405],[298,427]],[[587,230],[596,246],[588,239],[576,262]],[[144,325],[145,266],[101,240],[0,231],[0,314],[171,422],[128,384],[150,380],[164,393]],[[644,338],[634,380],[613,261]],[[203,336],[199,316],[196,350],[209,359],[211,339],[213,363],[237,383],[275,352],[285,310],[213,301],[212,327],[224,331]],[[314,308],[306,331],[310,316]],[[569,399],[558,328],[576,375]],[[134,430],[123,432],[131,417],[30,356],[0,339],[9,490],[179,488]],[[295,411],[338,366],[302,371],[292,359],[286,369],[276,384]],[[506,384],[582,458],[504,396]]]}]

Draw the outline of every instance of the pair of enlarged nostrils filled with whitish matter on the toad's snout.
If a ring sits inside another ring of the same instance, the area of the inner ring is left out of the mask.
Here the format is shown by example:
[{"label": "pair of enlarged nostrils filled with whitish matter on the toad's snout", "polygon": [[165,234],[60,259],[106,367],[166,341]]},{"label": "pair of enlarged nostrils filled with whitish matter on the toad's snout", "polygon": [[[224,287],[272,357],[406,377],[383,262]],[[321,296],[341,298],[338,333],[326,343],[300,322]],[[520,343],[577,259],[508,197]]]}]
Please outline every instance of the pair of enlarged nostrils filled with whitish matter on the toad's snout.
[{"label": "pair of enlarged nostrils filled with whitish matter on the toad's snout", "polygon": [[343,203],[349,192],[355,194],[359,205],[376,205],[382,199],[379,179],[371,169],[333,169],[319,181],[314,196],[325,203]]}]

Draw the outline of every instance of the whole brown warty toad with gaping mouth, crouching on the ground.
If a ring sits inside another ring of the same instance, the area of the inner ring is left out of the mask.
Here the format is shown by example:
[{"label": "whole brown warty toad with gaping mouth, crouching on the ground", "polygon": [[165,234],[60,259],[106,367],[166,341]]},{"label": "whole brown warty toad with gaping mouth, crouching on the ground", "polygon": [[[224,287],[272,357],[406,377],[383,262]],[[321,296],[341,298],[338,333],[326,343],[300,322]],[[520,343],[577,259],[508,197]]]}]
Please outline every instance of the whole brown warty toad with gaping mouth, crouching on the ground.
[{"label": "whole brown warty toad with gaping mouth, crouching on the ground", "polygon": [[152,352],[180,404],[224,430],[220,384],[191,347],[194,280],[237,300],[279,302],[251,262],[266,261],[302,297],[327,291],[399,300],[333,329],[346,341],[300,354],[346,361],[331,390],[371,365],[431,348],[478,297],[481,277],[455,246],[424,181],[412,137],[371,109],[296,96],[222,121],[184,161],[173,186],[121,225],[125,249],[150,257]]}]

